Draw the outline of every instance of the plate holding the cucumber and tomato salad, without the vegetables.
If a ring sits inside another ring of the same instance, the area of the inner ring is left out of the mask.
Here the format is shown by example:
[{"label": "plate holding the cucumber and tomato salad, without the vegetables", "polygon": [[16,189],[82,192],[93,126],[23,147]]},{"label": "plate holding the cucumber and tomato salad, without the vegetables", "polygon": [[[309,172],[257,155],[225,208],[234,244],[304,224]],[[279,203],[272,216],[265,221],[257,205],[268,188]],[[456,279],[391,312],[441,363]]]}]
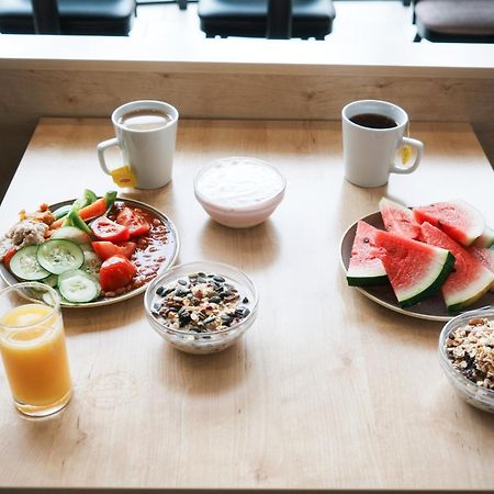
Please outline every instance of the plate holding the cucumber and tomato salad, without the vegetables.
[{"label": "plate holding the cucumber and tomato salad, without the vegetables", "polygon": [[[72,200],[50,204],[49,210],[56,211],[61,207],[69,206],[74,203],[74,201],[75,200],[72,199]],[[164,271],[166,271],[168,268],[170,268],[175,263],[178,252],[179,252],[180,242],[179,242],[179,235],[178,235],[177,228],[176,228],[173,222],[168,216],[162,214],[157,209],[150,206],[149,204],[145,204],[143,202],[139,202],[139,201],[136,201],[133,199],[116,198],[115,205],[116,206],[117,205],[127,206],[131,209],[141,210],[145,214],[149,215],[149,217],[156,218],[158,226],[164,228],[162,236],[165,237],[165,242],[161,243],[162,245],[160,245],[159,267],[157,268],[155,274],[153,277],[149,277],[148,279],[146,279],[146,281],[141,287],[136,287],[135,289],[126,291],[125,293],[116,294],[115,296],[100,296],[99,299],[96,299],[93,301],[81,302],[81,303],[71,303],[71,302],[68,302],[67,300],[63,299],[61,304],[60,304],[63,307],[71,307],[71,308],[99,307],[99,306],[110,305],[110,304],[119,303],[124,300],[131,299],[133,296],[138,295],[139,293],[143,293],[146,290],[147,285],[153,281],[153,279],[156,276],[162,273]],[[153,229],[151,229],[151,232],[153,232]],[[143,235],[143,237],[146,237],[146,235]],[[139,246],[137,246],[137,249],[134,255],[135,256],[141,255],[141,258],[149,257],[149,256],[146,256],[146,254],[147,252],[146,252],[145,247],[141,248]],[[156,260],[155,262],[158,263],[158,260]],[[12,272],[5,268],[3,262],[0,263],[0,278],[8,285],[14,285],[14,284],[19,283],[20,281],[22,281],[22,280],[18,279],[16,277],[14,277],[12,274]]]}]

